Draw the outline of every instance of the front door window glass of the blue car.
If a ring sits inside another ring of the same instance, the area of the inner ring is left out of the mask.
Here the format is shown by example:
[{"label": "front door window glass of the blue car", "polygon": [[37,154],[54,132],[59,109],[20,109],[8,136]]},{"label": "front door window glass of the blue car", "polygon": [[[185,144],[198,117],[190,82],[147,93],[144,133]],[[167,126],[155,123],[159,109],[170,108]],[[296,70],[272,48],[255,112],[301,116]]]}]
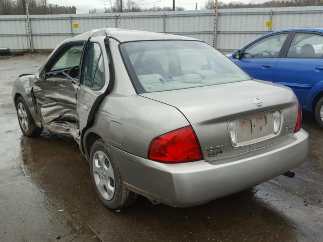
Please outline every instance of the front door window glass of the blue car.
[{"label": "front door window glass of the blue car", "polygon": [[285,34],[275,34],[268,36],[245,49],[243,58],[273,58],[277,57],[279,51],[288,36]]}]

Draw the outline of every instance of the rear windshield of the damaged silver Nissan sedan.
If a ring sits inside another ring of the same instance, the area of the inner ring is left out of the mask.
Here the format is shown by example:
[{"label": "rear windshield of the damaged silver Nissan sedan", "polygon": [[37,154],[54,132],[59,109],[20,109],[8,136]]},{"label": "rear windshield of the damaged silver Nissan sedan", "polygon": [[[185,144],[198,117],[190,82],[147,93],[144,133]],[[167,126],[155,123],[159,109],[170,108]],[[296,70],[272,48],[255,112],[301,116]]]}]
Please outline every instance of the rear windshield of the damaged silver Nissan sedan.
[{"label": "rear windshield of the damaged silver Nissan sedan", "polygon": [[138,93],[250,80],[229,58],[200,41],[137,41],[120,48]]}]

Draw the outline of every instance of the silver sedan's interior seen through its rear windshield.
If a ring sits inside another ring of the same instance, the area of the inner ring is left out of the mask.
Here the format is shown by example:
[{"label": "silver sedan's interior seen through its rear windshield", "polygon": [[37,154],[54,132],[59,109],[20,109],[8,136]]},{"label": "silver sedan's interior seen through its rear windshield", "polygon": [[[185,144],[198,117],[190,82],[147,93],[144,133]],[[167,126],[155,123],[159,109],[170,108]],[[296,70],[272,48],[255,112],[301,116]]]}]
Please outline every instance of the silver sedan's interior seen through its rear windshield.
[{"label": "silver sedan's interior seen through its rear windshield", "polygon": [[228,70],[232,66],[214,58],[208,49],[171,48],[142,46],[129,54],[136,77],[146,92],[246,80],[243,74]]}]

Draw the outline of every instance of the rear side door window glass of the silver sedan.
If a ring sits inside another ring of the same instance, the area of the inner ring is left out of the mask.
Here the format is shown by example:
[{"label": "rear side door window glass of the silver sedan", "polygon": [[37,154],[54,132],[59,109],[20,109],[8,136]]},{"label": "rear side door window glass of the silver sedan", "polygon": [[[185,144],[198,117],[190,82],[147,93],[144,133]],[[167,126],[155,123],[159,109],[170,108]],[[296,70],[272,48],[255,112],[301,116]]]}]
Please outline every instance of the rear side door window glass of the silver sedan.
[{"label": "rear side door window glass of the silver sedan", "polygon": [[104,64],[101,47],[92,42],[86,52],[82,67],[81,83],[93,89],[100,89],[105,82]]}]

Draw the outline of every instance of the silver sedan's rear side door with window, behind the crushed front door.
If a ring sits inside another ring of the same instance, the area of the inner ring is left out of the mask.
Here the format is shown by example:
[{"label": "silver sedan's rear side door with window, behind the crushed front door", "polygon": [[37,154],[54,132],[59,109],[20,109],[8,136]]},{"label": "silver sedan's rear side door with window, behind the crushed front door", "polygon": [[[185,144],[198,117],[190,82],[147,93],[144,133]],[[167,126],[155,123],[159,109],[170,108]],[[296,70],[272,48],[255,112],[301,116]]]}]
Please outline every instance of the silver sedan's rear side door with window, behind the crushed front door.
[{"label": "silver sedan's rear side door with window, behind the crushed front door", "polygon": [[110,83],[111,56],[106,37],[92,37],[85,45],[81,63],[77,112],[80,133],[92,121]]}]

